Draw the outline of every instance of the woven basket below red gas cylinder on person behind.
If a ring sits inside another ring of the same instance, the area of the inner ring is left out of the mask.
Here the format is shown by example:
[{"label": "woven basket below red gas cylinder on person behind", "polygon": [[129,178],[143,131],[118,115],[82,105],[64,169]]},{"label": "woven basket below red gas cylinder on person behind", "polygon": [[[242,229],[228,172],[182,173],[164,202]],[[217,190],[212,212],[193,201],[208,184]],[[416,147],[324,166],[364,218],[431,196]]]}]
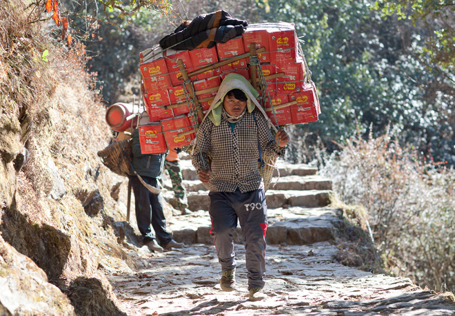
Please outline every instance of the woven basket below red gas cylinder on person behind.
[{"label": "woven basket below red gas cylinder on person behind", "polygon": [[[125,151],[125,154],[123,153]],[[127,176],[130,172],[130,161],[132,160],[132,140],[125,139],[112,143],[105,149],[98,151],[103,164],[120,176]]]}]

